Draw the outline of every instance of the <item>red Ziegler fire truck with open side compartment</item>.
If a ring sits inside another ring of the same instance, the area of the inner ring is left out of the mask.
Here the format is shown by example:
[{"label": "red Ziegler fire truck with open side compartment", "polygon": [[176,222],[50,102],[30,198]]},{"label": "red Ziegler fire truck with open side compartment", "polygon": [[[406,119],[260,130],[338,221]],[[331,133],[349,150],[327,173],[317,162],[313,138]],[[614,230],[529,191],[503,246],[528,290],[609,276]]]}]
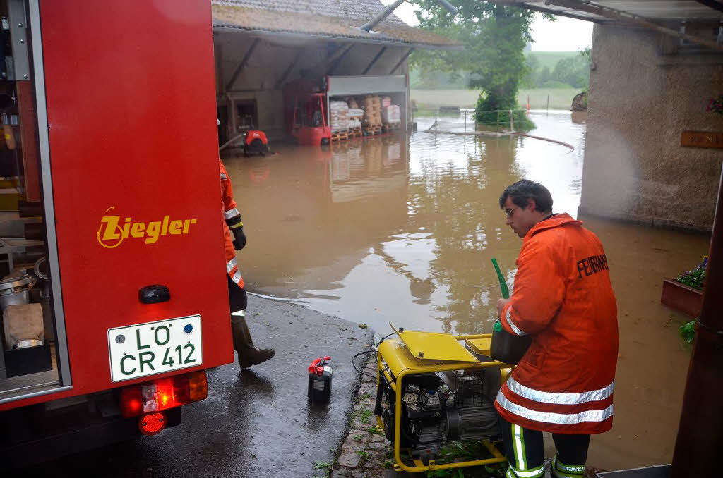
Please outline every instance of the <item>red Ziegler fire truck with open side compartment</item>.
[{"label": "red Ziegler fire truck with open side compartment", "polygon": [[0,15],[2,469],[177,425],[234,352],[210,2]]}]

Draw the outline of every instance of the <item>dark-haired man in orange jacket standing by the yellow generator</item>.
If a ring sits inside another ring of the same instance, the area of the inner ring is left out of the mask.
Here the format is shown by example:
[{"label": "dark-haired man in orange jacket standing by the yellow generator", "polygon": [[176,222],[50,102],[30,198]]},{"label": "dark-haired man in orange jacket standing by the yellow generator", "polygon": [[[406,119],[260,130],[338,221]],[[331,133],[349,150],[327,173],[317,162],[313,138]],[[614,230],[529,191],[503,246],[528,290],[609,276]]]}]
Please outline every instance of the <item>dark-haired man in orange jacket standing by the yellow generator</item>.
[{"label": "dark-haired man in orange jacket standing by the yellow generator", "polygon": [[495,401],[509,478],[544,475],[542,432],[552,433],[552,476],[582,477],[590,435],[612,427],[617,305],[600,240],[552,196],[518,181],[500,196],[523,240],[513,295],[497,302],[502,327],[532,342]]}]

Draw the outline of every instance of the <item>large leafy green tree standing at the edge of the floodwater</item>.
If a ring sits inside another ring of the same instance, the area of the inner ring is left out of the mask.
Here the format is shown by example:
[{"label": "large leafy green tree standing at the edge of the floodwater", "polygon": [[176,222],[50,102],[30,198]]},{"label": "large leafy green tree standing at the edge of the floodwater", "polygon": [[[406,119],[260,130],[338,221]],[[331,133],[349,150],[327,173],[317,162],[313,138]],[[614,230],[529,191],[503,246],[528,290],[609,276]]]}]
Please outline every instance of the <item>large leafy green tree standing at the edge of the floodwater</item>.
[{"label": "large leafy green tree standing at the edge of the floodwater", "polygon": [[416,14],[420,27],[453,38],[465,47],[462,51],[415,52],[414,67],[469,71],[469,87],[482,90],[476,113],[480,122],[487,119],[485,110],[518,108],[517,93],[528,68],[524,48],[531,40],[533,12],[487,1],[456,0],[451,3],[459,12],[452,16],[436,0],[413,3],[420,8]]}]

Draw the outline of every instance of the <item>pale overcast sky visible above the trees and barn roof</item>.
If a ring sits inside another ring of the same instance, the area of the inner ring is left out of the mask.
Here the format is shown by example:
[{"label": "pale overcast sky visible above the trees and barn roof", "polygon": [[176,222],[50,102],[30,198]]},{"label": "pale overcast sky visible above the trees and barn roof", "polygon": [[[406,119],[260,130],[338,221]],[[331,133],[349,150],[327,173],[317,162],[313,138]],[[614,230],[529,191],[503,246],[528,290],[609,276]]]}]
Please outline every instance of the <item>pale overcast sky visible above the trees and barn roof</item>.
[{"label": "pale overcast sky visible above the trees and barn roof", "polygon": [[[380,1],[388,5],[394,0]],[[409,25],[417,24],[414,7],[408,3],[398,6],[394,13]],[[557,17],[551,22],[535,14],[532,39],[532,51],[581,51],[591,45],[592,23],[566,17]]]}]

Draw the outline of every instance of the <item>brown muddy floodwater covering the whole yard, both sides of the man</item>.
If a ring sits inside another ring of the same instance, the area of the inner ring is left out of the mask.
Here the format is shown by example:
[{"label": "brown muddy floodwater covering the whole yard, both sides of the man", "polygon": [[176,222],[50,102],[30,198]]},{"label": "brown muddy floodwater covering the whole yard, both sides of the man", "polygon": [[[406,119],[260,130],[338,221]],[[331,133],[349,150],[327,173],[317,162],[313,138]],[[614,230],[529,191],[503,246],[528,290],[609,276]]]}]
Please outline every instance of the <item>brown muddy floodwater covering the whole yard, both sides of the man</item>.
[{"label": "brown muddy floodwater covering the whole yard, both sides of the man", "polygon": [[[497,198],[539,181],[555,212],[577,217],[584,123],[531,113],[530,132],[572,144],[422,132],[332,147],[272,144],[265,158],[223,158],[249,243],[238,254],[249,291],[292,300],[388,334],[388,323],[455,334],[489,332],[500,297],[491,259],[511,284],[521,240]],[[461,118],[445,118],[448,122]],[[449,126],[449,125],[448,125]],[[455,126],[455,125],[452,125]],[[660,304],[662,280],[707,253],[706,235],[580,217],[606,249],[617,296],[615,425],[594,436],[589,464],[669,463],[690,352],[687,319]],[[253,297],[249,300],[252,316]],[[320,330],[320,334],[324,331]],[[548,454],[554,453],[548,447]]]}]

